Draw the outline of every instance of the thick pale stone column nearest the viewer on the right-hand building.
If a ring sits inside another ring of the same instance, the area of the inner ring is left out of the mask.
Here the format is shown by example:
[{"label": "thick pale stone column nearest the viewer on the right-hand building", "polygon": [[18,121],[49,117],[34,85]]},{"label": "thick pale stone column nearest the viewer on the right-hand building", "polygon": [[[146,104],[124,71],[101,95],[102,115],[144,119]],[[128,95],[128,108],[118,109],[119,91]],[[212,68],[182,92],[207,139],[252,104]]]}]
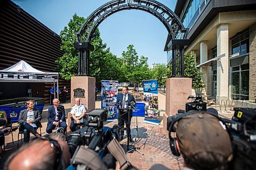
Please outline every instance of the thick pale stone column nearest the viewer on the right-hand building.
[{"label": "thick pale stone column nearest the viewer on the right-hand building", "polygon": [[217,96],[216,99],[225,102],[229,99],[228,96],[228,24],[223,23],[217,28],[217,57],[225,55],[217,61]]}]

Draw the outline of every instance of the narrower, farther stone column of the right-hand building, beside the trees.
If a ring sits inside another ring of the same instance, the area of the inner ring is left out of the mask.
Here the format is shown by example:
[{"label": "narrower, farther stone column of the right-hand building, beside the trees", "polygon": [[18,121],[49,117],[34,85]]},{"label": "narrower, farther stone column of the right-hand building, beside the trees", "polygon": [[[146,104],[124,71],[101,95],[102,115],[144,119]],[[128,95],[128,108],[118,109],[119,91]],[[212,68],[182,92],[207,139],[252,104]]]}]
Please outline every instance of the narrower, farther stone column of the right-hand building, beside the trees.
[{"label": "narrower, farther stone column of the right-hand building, beside the trees", "polygon": [[[204,63],[207,61],[207,41],[201,41],[200,42],[200,64]],[[205,94],[207,94],[207,84],[208,84],[208,79],[207,79],[207,69],[208,66],[201,66],[200,71],[204,73],[202,80],[204,82],[204,85],[206,85],[206,88],[204,88]]]}]

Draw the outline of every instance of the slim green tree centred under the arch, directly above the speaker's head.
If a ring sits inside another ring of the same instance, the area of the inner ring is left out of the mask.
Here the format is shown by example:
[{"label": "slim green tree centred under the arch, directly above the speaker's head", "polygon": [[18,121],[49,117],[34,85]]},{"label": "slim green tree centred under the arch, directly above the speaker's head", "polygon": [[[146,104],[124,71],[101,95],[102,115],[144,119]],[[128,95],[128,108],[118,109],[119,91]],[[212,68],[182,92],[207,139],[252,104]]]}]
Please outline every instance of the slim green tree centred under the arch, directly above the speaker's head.
[{"label": "slim green tree centred under the arch, directly above the speaker's head", "polygon": [[142,82],[146,78],[148,71],[147,57],[137,55],[134,45],[128,45],[127,51],[122,52],[123,70],[127,81],[134,83],[134,90],[136,84]]}]

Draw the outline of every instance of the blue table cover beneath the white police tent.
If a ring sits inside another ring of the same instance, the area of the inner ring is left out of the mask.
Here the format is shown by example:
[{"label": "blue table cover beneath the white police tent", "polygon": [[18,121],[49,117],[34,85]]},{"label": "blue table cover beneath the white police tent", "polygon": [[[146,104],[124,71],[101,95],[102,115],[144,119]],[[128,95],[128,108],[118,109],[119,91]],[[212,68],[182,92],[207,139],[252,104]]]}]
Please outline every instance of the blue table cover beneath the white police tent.
[{"label": "blue table cover beneath the white police tent", "polygon": [[[42,109],[44,109],[44,104],[35,105],[35,109],[38,109],[42,113]],[[18,122],[19,113],[22,110],[28,109],[27,106],[22,107],[13,107],[13,106],[6,106],[0,107],[0,110],[4,110],[7,114],[7,117],[11,117],[11,122],[15,123]]]}]

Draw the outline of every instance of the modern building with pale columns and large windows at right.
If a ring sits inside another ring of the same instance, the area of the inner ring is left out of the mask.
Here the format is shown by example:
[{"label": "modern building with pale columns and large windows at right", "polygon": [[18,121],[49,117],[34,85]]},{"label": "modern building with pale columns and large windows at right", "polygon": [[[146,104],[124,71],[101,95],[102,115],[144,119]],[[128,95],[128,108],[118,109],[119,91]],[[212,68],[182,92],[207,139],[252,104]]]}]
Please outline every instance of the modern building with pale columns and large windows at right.
[{"label": "modern building with pale columns and large windows at right", "polygon": [[255,0],[177,1],[174,12],[190,39],[185,53],[196,53],[205,91],[219,101],[256,96],[255,9]]}]

